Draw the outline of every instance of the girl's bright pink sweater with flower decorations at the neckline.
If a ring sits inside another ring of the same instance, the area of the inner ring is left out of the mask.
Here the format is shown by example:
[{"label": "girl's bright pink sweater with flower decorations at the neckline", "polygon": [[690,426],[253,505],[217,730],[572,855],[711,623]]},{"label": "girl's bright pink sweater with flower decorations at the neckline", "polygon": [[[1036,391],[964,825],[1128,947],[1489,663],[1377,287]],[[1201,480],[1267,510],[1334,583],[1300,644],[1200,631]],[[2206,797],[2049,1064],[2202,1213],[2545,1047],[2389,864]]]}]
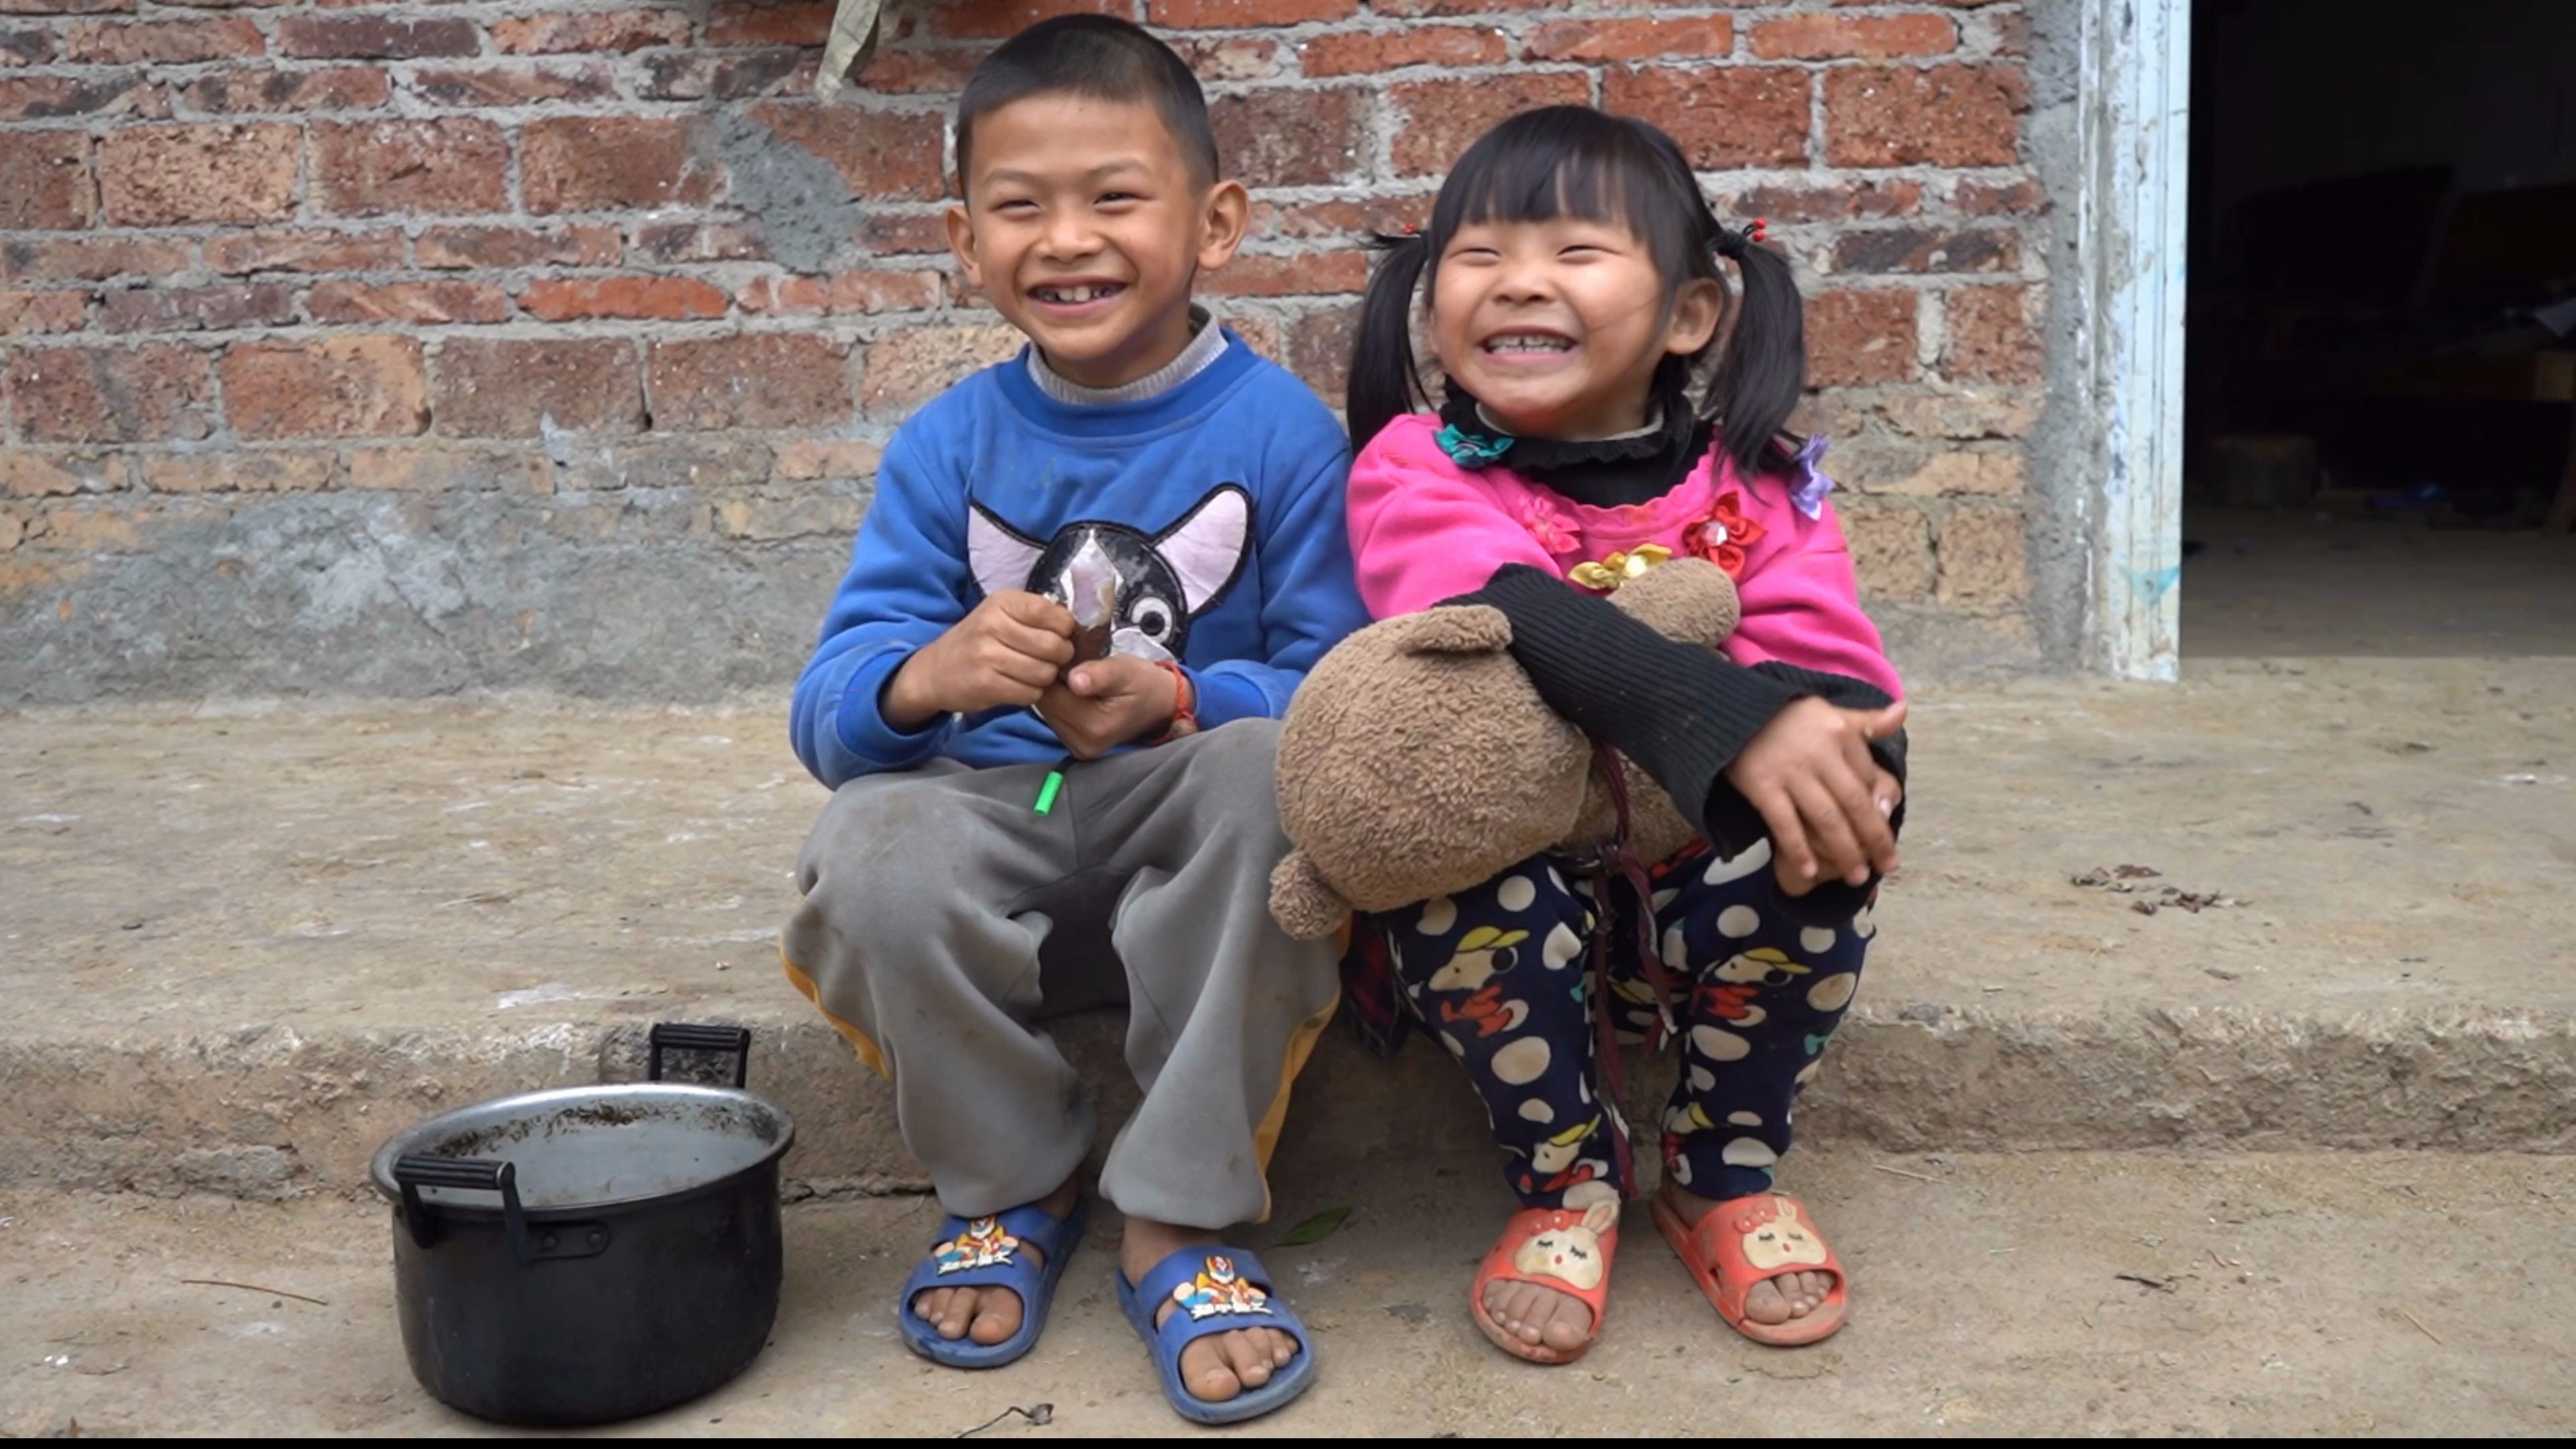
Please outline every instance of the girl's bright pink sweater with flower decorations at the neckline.
[{"label": "girl's bright pink sweater with flower decorations at the neckline", "polygon": [[1710,557],[1736,580],[1744,624],[1726,657],[1839,673],[1904,699],[1878,627],[1860,611],[1852,549],[1832,505],[1806,518],[1783,480],[1747,487],[1734,462],[1710,449],[1654,503],[1589,508],[1499,464],[1463,469],[1437,433],[1430,413],[1396,418],[1350,464],[1350,552],[1376,619],[1473,593],[1502,565],[1564,578],[1584,562],[1659,544],[1674,557]]}]

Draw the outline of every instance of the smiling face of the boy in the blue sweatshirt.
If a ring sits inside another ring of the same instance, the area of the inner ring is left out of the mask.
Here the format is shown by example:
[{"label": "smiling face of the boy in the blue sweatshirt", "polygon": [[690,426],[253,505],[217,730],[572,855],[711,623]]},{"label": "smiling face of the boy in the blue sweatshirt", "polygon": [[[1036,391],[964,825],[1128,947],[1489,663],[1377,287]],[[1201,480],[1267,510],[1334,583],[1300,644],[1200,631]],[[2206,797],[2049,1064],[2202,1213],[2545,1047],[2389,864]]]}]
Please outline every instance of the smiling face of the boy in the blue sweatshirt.
[{"label": "smiling face of the boy in the blue sweatshirt", "polygon": [[1082,387],[1121,387],[1190,343],[1190,284],[1234,258],[1252,201],[1193,175],[1144,101],[1041,93],[987,111],[948,245],[994,309]]}]

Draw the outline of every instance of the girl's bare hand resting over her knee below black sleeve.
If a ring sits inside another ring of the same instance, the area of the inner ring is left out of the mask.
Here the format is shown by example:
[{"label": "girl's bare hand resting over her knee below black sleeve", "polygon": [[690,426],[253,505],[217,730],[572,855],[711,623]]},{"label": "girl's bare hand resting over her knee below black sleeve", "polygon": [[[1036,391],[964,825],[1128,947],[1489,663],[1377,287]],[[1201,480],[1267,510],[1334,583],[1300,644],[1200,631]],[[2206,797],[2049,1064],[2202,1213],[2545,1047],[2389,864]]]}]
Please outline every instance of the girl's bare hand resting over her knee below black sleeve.
[{"label": "girl's bare hand resting over her knee below black sleeve", "polygon": [[1904,789],[1870,758],[1870,740],[1886,740],[1904,722],[1904,704],[1837,709],[1801,699],[1726,766],[1726,781],[1770,825],[1780,890],[1806,895],[1826,879],[1862,884],[1873,869],[1896,869],[1888,817]]}]

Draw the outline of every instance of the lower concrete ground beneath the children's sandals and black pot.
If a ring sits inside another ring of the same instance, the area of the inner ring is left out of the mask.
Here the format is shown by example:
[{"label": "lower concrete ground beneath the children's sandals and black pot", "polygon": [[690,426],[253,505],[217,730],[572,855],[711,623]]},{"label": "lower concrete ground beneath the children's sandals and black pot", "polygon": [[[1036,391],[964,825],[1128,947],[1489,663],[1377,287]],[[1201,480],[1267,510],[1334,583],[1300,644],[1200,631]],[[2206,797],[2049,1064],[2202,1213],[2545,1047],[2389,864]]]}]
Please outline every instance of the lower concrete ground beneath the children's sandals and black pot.
[{"label": "lower concrete ground beneath the children's sandals and black pot", "polygon": [[[1504,1217],[1489,1173],[1450,1155],[1301,1178],[1275,1222],[1355,1207],[1337,1235],[1236,1235],[1280,1274],[1321,1374],[1249,1434],[2576,1431],[2576,1158],[1801,1152],[1785,1186],[1852,1269],[1850,1328],[1795,1351],[1736,1338],[1631,1207],[1605,1336],[1569,1369],[1507,1361],[1466,1320]],[[1110,1294],[1115,1214],[1092,1220],[1038,1348],[984,1374],[894,1338],[894,1292],[933,1222],[925,1199],[791,1207],[770,1351],[616,1434],[1182,1428]],[[415,1387],[386,1235],[379,1204],[337,1196],[0,1194],[0,1434],[495,1434]],[[1046,1428],[1007,1413],[1036,1405]]]}]

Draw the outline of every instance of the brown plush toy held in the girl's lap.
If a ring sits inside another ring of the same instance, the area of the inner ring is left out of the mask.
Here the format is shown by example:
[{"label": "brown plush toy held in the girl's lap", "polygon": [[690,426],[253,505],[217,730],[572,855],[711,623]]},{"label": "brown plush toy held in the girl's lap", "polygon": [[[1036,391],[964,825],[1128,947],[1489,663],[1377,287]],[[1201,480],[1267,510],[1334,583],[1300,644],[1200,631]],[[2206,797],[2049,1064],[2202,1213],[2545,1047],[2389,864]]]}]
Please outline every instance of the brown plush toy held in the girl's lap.
[{"label": "brown plush toy held in the girl's lap", "polygon": [[[1613,603],[1695,645],[1736,629],[1736,585],[1672,559]],[[1298,686],[1280,727],[1280,825],[1296,851],[1270,877],[1270,915],[1298,938],[1352,910],[1394,910],[1494,879],[1540,851],[1582,853],[1618,830],[1592,743],[1566,724],[1507,645],[1497,608],[1458,603],[1342,639]],[[1662,861],[1695,830],[1659,784],[1620,761],[1628,848]]]}]

